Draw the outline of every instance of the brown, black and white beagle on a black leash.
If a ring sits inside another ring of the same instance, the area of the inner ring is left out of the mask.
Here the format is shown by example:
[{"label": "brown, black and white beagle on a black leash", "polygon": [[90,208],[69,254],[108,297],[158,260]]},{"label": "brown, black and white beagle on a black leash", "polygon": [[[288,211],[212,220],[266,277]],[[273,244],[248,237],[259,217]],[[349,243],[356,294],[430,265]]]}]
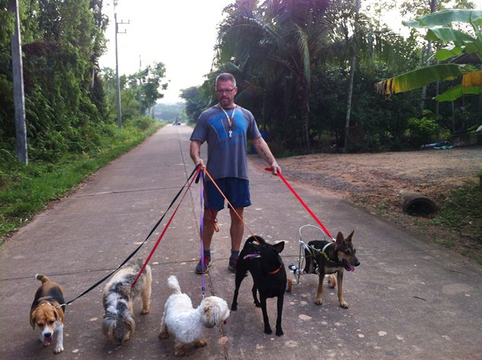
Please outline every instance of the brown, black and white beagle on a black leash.
[{"label": "brown, black and white beagle on a black leash", "polygon": [[39,332],[40,341],[49,346],[57,337],[54,353],[63,352],[63,314],[65,304],[62,286],[50,281],[45,275],[35,275],[42,282],[36,290],[32,308],[30,308],[30,325]]}]

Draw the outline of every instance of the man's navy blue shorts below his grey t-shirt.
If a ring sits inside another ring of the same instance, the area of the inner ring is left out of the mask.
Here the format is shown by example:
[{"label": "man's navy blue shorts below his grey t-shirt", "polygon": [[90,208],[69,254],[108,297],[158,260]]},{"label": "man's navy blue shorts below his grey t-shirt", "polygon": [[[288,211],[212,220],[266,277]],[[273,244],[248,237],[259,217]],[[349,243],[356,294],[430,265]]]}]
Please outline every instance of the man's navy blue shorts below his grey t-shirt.
[{"label": "man's navy blue shorts below his grey t-shirt", "polygon": [[[249,180],[240,178],[220,178],[216,179],[216,184],[226,195],[233,207],[249,207]],[[205,199],[205,209],[209,207],[213,210],[224,209],[224,198],[212,181],[206,182],[207,201]],[[228,205],[228,207],[230,207]]]}]

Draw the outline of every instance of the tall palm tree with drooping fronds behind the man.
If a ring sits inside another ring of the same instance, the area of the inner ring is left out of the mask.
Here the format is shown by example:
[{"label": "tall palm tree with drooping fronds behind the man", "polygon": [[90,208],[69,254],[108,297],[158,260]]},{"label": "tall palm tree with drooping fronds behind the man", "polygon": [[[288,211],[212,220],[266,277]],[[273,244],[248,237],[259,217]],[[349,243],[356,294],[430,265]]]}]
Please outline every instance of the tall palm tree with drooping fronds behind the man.
[{"label": "tall palm tree with drooping fronds behind the man", "polygon": [[330,5],[331,0],[266,0],[260,6],[238,0],[224,10],[228,16],[218,36],[219,63],[235,63],[261,88],[287,85],[284,107],[297,106],[307,152],[311,70],[321,61],[331,30],[324,18]]}]

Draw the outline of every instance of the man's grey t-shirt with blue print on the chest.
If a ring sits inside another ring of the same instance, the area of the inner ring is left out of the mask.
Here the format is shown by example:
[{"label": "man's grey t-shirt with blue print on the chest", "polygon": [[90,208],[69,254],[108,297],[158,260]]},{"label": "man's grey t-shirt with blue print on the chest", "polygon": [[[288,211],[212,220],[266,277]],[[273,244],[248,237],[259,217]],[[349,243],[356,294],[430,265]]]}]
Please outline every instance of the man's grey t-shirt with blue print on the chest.
[{"label": "man's grey t-shirt with blue print on the chest", "polygon": [[[226,112],[231,118],[233,109],[226,109]],[[246,140],[261,136],[253,114],[236,105],[231,131],[230,138],[226,114],[213,106],[199,116],[191,141],[207,141],[206,167],[213,179],[232,177],[248,180]]]}]

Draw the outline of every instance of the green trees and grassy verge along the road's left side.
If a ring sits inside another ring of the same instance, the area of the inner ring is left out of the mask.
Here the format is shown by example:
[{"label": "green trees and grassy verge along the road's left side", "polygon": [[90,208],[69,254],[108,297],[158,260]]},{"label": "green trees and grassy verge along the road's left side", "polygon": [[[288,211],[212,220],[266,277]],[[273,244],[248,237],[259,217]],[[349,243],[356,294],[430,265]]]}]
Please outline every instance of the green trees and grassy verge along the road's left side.
[{"label": "green trees and grassy verge along the road's left side", "polygon": [[160,62],[120,76],[120,129],[114,71],[98,65],[103,1],[19,0],[19,8],[28,165],[17,162],[14,17],[0,0],[0,239],[156,131],[160,123],[146,115],[167,88]]}]

